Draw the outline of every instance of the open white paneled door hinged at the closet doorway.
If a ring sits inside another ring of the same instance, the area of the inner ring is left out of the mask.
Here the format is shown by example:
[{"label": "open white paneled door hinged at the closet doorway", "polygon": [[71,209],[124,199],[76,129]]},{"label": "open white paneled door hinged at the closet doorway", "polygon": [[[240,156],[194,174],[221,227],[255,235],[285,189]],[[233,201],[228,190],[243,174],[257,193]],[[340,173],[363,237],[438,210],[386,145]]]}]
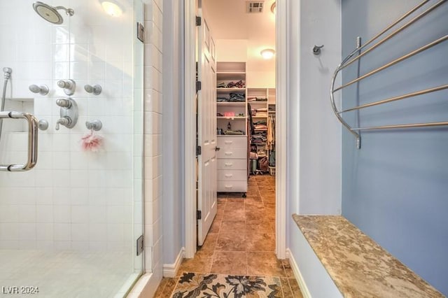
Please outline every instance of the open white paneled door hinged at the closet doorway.
[{"label": "open white paneled door hinged at the closet doorway", "polygon": [[216,62],[214,41],[207,22],[202,17],[201,1],[198,13],[201,24],[197,31],[197,76],[201,82],[201,90],[197,94],[197,143],[201,146],[201,154],[198,156],[197,209],[201,211],[201,218],[197,222],[197,244],[202,246],[217,211]]}]

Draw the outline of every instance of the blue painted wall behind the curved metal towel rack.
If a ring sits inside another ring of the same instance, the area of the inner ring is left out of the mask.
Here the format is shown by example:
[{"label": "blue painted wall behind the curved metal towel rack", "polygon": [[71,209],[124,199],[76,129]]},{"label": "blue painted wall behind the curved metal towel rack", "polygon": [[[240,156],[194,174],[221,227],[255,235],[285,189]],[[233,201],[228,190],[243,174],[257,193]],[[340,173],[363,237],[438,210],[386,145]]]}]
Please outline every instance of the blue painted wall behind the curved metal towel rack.
[{"label": "blue painted wall behind the curved metal towel rack", "polygon": [[[419,1],[343,0],[342,55]],[[430,1],[435,3],[435,1]],[[421,10],[420,10],[421,11]],[[448,3],[342,74],[343,82],[448,34]],[[448,84],[448,41],[342,92],[343,106]],[[358,117],[358,118],[357,118]],[[448,121],[448,90],[356,115],[352,125]],[[363,133],[362,148],[342,135],[342,214],[448,295],[448,127]]]}]

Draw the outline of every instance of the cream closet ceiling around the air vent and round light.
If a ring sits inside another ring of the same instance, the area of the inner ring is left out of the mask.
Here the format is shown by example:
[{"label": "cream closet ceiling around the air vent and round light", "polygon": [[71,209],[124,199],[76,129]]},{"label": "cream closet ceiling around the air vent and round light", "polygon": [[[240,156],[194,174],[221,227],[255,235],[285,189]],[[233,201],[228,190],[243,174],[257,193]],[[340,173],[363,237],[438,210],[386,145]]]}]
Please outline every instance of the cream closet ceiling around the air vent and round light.
[{"label": "cream closet ceiling around the air vent and round light", "polygon": [[275,15],[271,12],[274,2],[265,0],[262,13],[246,13],[246,0],[202,0],[202,6],[215,40],[246,39],[248,62],[256,62],[262,69],[275,69],[275,59],[264,60],[260,55],[262,49],[275,49]]}]

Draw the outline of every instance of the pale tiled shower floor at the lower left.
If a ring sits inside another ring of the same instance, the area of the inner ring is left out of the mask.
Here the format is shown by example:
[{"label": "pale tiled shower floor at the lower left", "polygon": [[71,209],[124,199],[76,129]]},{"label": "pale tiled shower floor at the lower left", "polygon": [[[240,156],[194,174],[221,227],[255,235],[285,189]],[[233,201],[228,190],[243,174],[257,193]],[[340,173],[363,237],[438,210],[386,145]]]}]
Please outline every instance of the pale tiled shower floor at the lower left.
[{"label": "pale tiled shower floor at the lower left", "polygon": [[[0,250],[0,293],[5,297],[115,297],[132,274],[125,252]],[[38,287],[39,292],[3,294],[14,286]]]}]

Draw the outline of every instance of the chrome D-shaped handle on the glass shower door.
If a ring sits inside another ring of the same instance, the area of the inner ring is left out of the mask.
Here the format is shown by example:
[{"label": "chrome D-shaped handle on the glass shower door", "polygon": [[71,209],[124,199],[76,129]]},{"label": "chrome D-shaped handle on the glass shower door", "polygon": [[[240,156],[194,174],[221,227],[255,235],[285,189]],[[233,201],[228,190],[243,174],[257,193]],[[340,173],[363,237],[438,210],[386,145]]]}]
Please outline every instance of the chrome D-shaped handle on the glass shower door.
[{"label": "chrome D-shaped handle on the glass shower door", "polygon": [[28,122],[28,152],[26,164],[0,164],[0,171],[29,171],[37,163],[38,120],[34,115],[21,112],[0,112],[0,119],[25,119]]}]

